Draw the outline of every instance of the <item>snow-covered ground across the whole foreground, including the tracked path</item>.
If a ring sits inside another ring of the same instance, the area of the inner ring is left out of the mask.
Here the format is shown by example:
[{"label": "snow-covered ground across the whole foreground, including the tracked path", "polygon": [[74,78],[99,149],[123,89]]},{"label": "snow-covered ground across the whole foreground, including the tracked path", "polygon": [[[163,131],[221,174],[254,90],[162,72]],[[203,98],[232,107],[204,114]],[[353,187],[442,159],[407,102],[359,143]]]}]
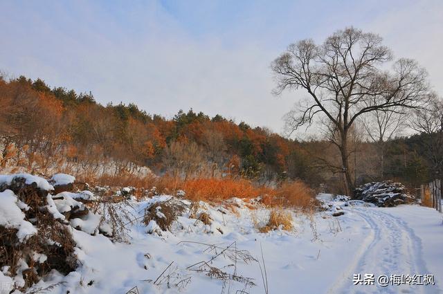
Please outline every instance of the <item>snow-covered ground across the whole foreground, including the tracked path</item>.
[{"label": "snow-covered ground across the whole foreground, including the tracked path", "polygon": [[[80,266],[66,277],[53,272],[33,289],[56,285],[48,293],[60,294],[266,293],[265,288],[274,294],[443,292],[442,215],[430,208],[345,205],[322,194],[330,209],[310,216],[292,212],[291,232],[258,232],[256,224],[266,221],[269,210],[250,209],[240,199],[233,199],[230,209],[200,203],[199,210],[213,219],[210,225],[189,212],[171,232],[141,222],[145,208],[169,198],[130,200],[122,208],[137,220],[127,225],[129,243],[72,229]],[[332,217],[336,211],[345,214]],[[363,279],[365,274],[374,275],[374,285],[354,285],[354,275]],[[380,275],[410,275],[410,285],[380,286]],[[414,275],[433,275],[433,281],[426,277],[429,285],[413,285]],[[0,293],[9,293],[10,282],[0,272]]]}]

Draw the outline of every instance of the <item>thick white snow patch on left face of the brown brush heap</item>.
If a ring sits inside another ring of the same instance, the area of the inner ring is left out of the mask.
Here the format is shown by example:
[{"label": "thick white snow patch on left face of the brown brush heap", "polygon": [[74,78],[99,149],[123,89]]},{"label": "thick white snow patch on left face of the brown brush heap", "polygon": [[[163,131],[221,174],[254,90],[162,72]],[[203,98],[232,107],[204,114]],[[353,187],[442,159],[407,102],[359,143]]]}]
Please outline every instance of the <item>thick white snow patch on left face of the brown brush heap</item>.
[{"label": "thick white snow patch on left face of the brown brush heap", "polygon": [[23,242],[34,235],[37,229],[29,221],[25,221],[25,214],[17,206],[17,196],[11,190],[0,192],[0,226],[17,229],[17,237]]}]

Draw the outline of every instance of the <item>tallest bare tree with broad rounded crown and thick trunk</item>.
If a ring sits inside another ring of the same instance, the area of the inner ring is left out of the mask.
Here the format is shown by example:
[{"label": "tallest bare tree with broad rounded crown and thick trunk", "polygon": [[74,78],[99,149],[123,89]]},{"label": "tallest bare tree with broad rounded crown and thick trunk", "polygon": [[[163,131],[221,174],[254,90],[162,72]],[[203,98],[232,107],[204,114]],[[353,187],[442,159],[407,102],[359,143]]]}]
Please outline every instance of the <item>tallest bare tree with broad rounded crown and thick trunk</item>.
[{"label": "tallest bare tree with broad rounded crown and thick trunk", "polygon": [[411,59],[399,59],[386,71],[392,53],[379,35],[355,28],[338,30],[317,45],[305,39],[288,46],[271,64],[279,95],[303,89],[308,96],[287,116],[292,131],[311,125],[317,116],[332,123],[340,140],[345,192],[353,189],[348,136],[357,118],[372,111],[421,107],[428,95],[426,71]]}]

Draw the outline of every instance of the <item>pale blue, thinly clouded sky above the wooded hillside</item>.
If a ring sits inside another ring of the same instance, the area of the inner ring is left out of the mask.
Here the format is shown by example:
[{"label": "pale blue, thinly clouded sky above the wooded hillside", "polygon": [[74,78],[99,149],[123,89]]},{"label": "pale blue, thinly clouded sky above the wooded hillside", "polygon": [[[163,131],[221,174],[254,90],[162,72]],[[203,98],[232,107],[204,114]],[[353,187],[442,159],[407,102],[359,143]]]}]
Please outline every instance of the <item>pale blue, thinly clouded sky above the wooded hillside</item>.
[{"label": "pale blue, thinly clouded sky above the wooded hillside", "polygon": [[271,95],[291,42],[345,26],[379,33],[443,93],[443,1],[1,1],[0,71],[135,102],[190,107],[282,131],[300,93]]}]

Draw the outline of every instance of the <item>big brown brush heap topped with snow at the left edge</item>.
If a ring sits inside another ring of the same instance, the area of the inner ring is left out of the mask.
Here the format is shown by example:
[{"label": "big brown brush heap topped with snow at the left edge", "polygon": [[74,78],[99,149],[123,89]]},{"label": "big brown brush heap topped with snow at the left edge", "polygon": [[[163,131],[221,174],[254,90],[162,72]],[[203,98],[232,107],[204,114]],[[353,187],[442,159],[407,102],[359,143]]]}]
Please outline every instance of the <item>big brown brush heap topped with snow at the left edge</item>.
[{"label": "big brown brush heap topped with snow at the left edge", "polygon": [[[57,270],[77,266],[75,242],[65,217],[57,210],[53,190],[43,178],[28,174],[0,177],[0,268],[24,290]],[[45,196],[46,194],[46,196]]]}]

